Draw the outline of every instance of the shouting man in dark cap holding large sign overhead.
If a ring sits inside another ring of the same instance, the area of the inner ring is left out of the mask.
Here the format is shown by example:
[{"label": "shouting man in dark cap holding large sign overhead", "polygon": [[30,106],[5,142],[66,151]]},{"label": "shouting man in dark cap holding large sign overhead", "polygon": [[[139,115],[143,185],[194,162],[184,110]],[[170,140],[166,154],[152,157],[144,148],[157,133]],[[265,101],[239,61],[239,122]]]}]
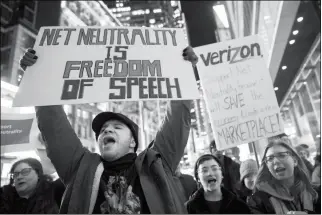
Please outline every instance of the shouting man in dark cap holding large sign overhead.
[{"label": "shouting man in dark cap holding large sign overhead", "polygon": [[[29,49],[21,67],[37,58]],[[183,58],[198,61],[191,47]],[[60,212],[186,213],[174,172],[188,141],[190,109],[191,101],[171,101],[154,141],[139,155],[137,124],[120,113],[98,114],[92,128],[99,156],[84,149],[62,106],[36,107],[48,157],[66,185]]]}]

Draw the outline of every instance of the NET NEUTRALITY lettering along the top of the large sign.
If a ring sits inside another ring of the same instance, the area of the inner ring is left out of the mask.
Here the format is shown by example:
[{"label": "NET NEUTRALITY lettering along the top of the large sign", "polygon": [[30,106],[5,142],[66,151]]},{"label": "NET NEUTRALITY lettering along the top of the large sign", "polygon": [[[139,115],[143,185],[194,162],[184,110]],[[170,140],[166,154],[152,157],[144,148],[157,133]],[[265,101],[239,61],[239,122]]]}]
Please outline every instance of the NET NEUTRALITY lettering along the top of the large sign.
[{"label": "NET NEUTRALITY lettering along the top of the large sign", "polygon": [[[65,35],[67,31],[67,35]],[[69,45],[76,28],[44,29],[39,46]],[[176,30],[170,29],[127,29],[127,28],[81,28],[77,45],[143,45],[177,46]]]}]

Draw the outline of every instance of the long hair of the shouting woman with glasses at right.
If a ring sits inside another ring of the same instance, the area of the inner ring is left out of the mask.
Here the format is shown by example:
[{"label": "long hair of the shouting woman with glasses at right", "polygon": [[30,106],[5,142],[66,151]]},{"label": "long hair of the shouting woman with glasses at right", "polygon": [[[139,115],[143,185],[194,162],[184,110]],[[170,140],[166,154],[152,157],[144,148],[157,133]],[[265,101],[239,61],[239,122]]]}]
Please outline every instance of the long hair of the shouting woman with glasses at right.
[{"label": "long hair of the shouting woman with glasses at right", "polygon": [[310,182],[308,170],[307,170],[303,160],[301,159],[301,157],[298,155],[296,150],[289,144],[289,142],[285,138],[276,138],[276,139],[271,140],[268,143],[268,145],[264,151],[262,163],[259,168],[257,178],[255,180],[254,191],[258,190],[258,186],[261,182],[269,183],[274,189],[278,189],[278,186],[280,185],[280,182],[277,179],[275,179],[272,176],[272,174],[270,173],[270,171],[267,167],[267,164],[265,162],[265,157],[266,157],[267,151],[268,151],[268,149],[270,149],[273,146],[282,146],[282,147],[286,148],[291,153],[291,156],[294,159],[296,159],[296,161],[297,161],[297,166],[294,167],[294,178],[301,180],[304,183],[304,185],[307,187],[307,189],[310,193],[315,193],[315,191],[311,185],[311,182]]}]

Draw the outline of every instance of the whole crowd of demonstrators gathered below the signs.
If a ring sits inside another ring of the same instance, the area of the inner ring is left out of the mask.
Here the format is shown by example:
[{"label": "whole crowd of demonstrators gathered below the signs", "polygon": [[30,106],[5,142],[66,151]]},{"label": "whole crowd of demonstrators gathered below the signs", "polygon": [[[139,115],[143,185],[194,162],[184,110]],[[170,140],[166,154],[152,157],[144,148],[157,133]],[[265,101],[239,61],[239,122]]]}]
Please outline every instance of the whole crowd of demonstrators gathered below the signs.
[{"label": "whole crowd of demonstrators gathered below the signs", "polygon": [[[198,57],[191,47],[182,55],[196,65]],[[21,66],[32,66],[37,58],[29,49]],[[240,163],[238,157],[235,162],[232,149],[223,155],[212,141],[211,154],[195,163],[197,182],[182,174],[180,160],[191,128],[190,108],[190,101],[171,101],[155,139],[138,155],[138,125],[121,113],[98,114],[92,122],[98,155],[82,146],[62,106],[36,107],[48,157],[66,190],[60,180],[53,182],[43,174],[39,161],[21,160],[12,167],[10,184],[1,188],[1,212],[321,212],[320,157],[313,173],[308,172],[307,148],[297,148],[301,158],[285,134],[269,140],[259,169],[251,159]]]}]

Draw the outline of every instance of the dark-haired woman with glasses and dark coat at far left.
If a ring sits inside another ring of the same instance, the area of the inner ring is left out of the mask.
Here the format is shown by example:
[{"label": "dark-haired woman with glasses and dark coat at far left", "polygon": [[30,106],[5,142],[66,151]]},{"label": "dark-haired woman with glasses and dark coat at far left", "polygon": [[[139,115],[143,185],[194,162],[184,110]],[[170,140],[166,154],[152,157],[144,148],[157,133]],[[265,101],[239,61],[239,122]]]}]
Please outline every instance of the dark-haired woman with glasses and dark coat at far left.
[{"label": "dark-haired woman with glasses and dark coat at far left", "polygon": [[15,162],[10,183],[1,188],[0,213],[55,214],[65,190],[60,179],[43,174],[41,163],[34,158]]}]

